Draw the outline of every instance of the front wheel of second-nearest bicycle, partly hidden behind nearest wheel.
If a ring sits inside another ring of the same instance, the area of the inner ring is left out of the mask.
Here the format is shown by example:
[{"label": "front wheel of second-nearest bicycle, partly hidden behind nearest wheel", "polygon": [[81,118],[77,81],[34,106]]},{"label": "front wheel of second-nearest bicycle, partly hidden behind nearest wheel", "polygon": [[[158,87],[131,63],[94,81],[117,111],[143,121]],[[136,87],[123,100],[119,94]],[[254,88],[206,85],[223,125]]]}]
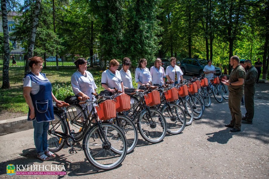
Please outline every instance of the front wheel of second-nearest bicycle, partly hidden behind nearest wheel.
[{"label": "front wheel of second-nearest bicycle, partly hidden behind nearest wheel", "polygon": [[[116,119],[114,121],[117,121]],[[116,124],[123,131],[126,141],[127,141],[127,154],[132,152],[135,149],[138,133],[135,126],[135,123],[124,115],[118,115],[118,121],[120,124]]]}]

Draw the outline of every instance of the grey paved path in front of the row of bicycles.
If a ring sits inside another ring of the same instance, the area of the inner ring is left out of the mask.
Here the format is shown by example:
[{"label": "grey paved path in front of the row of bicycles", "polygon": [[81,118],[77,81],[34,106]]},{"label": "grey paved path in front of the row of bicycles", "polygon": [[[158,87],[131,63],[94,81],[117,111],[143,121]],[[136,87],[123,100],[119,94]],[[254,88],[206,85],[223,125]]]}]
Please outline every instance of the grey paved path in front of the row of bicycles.
[{"label": "grey paved path in front of the row of bicycles", "polygon": [[[134,152],[117,169],[99,171],[89,164],[81,145],[77,154],[65,147],[50,161],[36,158],[33,129],[0,136],[1,178],[269,178],[269,102],[255,98],[253,125],[242,124],[232,133],[228,102],[206,108],[202,119],[193,121],[179,135],[167,134],[158,144],[141,137]],[[242,113],[245,112],[242,106]],[[7,164],[64,165],[65,176],[8,176]]]}]

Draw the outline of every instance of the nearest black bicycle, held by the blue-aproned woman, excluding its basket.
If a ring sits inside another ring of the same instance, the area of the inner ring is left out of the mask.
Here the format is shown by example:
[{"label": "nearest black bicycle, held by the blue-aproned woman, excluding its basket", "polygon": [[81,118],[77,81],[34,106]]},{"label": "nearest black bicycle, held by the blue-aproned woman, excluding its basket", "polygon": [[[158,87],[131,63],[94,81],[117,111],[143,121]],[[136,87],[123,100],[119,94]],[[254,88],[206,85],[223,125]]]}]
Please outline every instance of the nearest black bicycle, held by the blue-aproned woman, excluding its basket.
[{"label": "nearest black bicycle, held by the blue-aproned woman, excluding its basket", "polygon": [[[87,100],[82,103],[93,106],[97,102],[98,100]],[[113,102],[111,103],[113,104]],[[54,110],[55,120],[50,122],[48,130],[48,149],[57,152],[62,149],[64,144],[67,144],[71,147],[69,153],[74,153],[76,152],[73,147],[74,143],[83,139],[82,149],[92,165],[103,170],[110,170],[119,166],[127,153],[127,141],[122,130],[114,124],[102,122],[98,119],[93,108],[90,112],[90,114],[93,113],[93,117],[90,119],[91,115],[88,115],[88,122],[84,123],[79,132],[82,134],[74,135],[68,122],[67,106],[69,106],[67,103],[56,104],[58,108]],[[93,121],[95,123],[91,126]]]}]

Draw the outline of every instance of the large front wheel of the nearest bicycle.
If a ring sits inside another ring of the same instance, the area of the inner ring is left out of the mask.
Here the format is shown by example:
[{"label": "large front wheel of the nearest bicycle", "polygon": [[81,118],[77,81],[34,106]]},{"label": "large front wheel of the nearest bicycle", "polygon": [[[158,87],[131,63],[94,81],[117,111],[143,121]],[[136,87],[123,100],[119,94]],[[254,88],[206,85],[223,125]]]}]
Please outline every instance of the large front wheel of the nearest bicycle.
[{"label": "large front wheel of the nearest bicycle", "polygon": [[86,158],[93,166],[111,170],[123,162],[127,153],[127,142],[118,126],[102,123],[102,128],[99,128],[95,124],[83,139],[83,149]]}]

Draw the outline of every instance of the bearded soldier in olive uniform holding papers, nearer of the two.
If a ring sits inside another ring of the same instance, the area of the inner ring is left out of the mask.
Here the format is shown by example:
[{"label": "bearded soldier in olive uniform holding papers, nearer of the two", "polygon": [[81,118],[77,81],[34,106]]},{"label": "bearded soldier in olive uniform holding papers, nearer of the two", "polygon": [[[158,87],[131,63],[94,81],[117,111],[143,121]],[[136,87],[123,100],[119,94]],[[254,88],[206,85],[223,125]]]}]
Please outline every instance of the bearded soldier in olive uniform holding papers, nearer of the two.
[{"label": "bearded soldier in olive uniform holding papers, nearer of the two", "polygon": [[226,124],[225,127],[233,128],[231,132],[241,131],[241,99],[244,95],[244,79],[246,72],[244,68],[239,65],[239,57],[232,56],[230,58],[230,65],[233,70],[230,74],[229,80],[222,79],[223,83],[228,86],[229,89],[229,108],[232,115],[230,124]]}]

